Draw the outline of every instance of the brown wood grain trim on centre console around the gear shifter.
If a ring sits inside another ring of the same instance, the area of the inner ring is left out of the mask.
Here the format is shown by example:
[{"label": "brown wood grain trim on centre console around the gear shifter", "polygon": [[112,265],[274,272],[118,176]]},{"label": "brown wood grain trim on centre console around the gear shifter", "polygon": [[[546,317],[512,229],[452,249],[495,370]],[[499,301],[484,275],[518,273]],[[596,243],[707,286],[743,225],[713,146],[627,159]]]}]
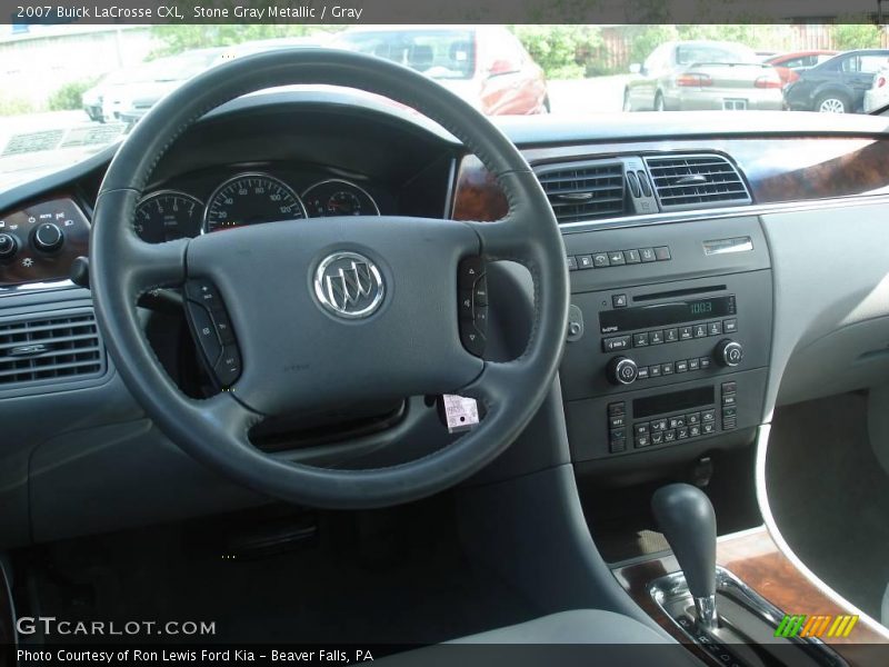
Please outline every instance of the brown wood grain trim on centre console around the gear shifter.
[{"label": "brown wood grain trim on centre console around the gear shifter", "polygon": [[[717,563],[736,575],[750,588],[788,614],[851,614],[837,605],[780,551],[766,528],[720,539],[717,544]],[[673,637],[680,633],[660,611],[648,595],[647,586],[660,576],[677,571],[679,566],[672,555],[651,558],[613,570],[620,585],[657,623]],[[863,665],[872,654],[861,645],[889,644],[887,638],[859,620],[849,637],[821,637],[826,644],[852,665]]]}]

